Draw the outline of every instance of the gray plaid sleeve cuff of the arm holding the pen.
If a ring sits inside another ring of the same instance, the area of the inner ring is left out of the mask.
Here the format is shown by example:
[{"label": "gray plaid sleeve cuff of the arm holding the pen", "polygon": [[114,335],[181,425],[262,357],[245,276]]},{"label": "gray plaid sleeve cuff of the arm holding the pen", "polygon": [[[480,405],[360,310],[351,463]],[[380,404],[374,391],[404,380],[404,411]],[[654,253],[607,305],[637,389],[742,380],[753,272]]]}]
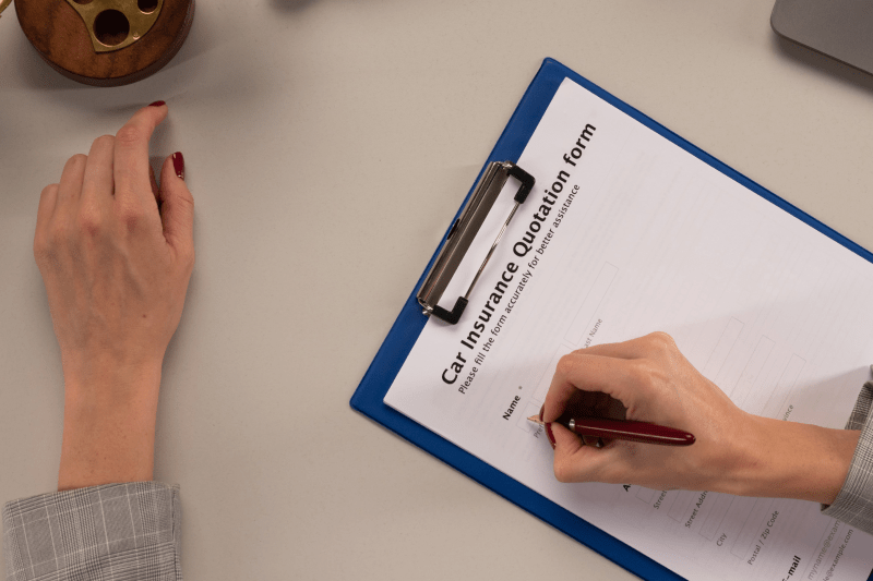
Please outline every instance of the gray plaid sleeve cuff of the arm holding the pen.
[{"label": "gray plaid sleeve cuff of the arm holding the pen", "polygon": [[[872,367],[873,368],[873,367]],[[822,505],[822,513],[873,534],[873,382],[861,388],[846,429],[860,429],[849,474],[830,506]]]}]

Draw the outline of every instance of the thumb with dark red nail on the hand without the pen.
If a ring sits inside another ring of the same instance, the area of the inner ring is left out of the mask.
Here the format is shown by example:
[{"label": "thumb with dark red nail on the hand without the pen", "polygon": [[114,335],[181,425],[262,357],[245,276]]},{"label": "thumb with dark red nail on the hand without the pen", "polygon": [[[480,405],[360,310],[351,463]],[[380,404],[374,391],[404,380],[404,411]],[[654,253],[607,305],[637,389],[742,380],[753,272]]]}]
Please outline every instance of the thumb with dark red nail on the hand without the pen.
[{"label": "thumb with dark red nail on the hand without the pen", "polygon": [[177,250],[193,249],[194,198],[184,183],[184,157],[180,152],[164,160],[158,203],[167,243]]}]

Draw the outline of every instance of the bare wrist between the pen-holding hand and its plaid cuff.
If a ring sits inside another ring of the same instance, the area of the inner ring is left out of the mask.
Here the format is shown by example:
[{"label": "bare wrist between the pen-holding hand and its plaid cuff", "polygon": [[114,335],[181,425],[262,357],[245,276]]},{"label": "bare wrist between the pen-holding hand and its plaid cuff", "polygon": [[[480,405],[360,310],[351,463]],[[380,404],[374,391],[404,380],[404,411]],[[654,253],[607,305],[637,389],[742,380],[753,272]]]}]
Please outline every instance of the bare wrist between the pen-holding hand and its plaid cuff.
[{"label": "bare wrist between the pen-holding hand and its plaid cuff", "polygon": [[830,429],[752,416],[743,460],[726,471],[720,492],[799,498],[829,505],[846,481],[860,431]]}]

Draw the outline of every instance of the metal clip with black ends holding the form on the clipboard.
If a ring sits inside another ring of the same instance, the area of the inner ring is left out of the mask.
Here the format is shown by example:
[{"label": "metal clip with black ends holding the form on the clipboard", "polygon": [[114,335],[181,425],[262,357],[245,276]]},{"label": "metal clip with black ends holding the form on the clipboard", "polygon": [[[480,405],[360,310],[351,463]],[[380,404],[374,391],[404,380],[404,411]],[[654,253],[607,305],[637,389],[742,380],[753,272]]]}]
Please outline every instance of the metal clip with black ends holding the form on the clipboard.
[{"label": "metal clip with black ends holding the form on the clipboard", "polygon": [[[503,227],[500,229],[497,239],[494,239],[494,242],[491,244],[491,250],[488,251],[488,255],[485,257],[485,261],[482,261],[482,265],[479,267],[473,282],[470,282],[467,289],[467,293],[464,296],[458,296],[452,311],[447,311],[436,303],[440,302],[445,288],[449,286],[452,277],[455,276],[455,271],[467,254],[467,250],[470,247],[470,244],[473,244],[473,240],[479,232],[479,228],[481,228],[488,213],[491,211],[491,207],[494,205],[500,192],[503,190],[503,185],[510,177],[515,178],[522,183],[522,186],[514,197],[515,205],[512,207],[506,221],[503,222]],[[511,161],[492,161],[488,165],[481,180],[476,184],[476,190],[474,190],[473,195],[470,195],[469,202],[467,202],[467,205],[464,207],[464,211],[461,213],[461,217],[455,220],[455,223],[453,223],[452,228],[449,230],[449,235],[445,239],[443,249],[436,256],[436,261],[434,261],[427,278],[424,278],[421,289],[418,291],[418,294],[416,294],[418,303],[424,310],[424,315],[434,315],[450,325],[454,325],[461,319],[461,315],[467,307],[470,292],[473,292],[473,288],[479,280],[479,276],[482,274],[482,270],[485,270],[485,265],[488,264],[488,261],[494,253],[494,249],[497,249],[500,239],[503,237],[503,232],[506,231],[506,227],[510,225],[513,216],[515,216],[515,210],[527,199],[527,194],[534,189],[534,182],[533,175]]]}]

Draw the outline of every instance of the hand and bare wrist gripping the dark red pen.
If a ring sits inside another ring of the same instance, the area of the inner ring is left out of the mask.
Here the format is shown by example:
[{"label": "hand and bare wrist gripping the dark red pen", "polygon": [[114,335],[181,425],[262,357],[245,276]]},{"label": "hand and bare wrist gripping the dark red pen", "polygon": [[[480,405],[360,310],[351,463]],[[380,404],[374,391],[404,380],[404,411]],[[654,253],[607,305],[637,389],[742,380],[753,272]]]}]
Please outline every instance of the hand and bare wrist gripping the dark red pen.
[{"label": "hand and bare wrist gripping the dark red pen", "polygon": [[690,432],[692,446],[612,440],[586,445],[551,424],[561,482],[638,484],[829,504],[848,472],[858,432],[780,422],[740,410],[656,332],[561,359],[542,419],[564,412],[650,422]]}]

